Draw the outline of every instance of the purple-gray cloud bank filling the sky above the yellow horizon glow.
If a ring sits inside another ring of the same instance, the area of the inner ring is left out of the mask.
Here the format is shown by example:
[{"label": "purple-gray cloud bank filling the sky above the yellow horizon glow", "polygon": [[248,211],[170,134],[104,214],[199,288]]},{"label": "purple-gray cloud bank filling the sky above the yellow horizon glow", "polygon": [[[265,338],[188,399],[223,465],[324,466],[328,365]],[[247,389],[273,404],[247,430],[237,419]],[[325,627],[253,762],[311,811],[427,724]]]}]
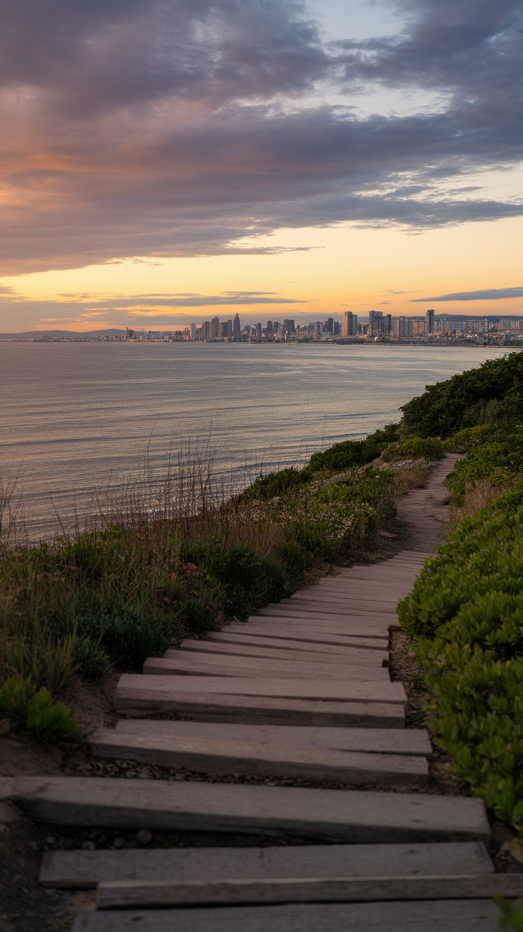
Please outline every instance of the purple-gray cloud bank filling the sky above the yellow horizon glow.
[{"label": "purple-gray cloud bank filling the sky above the yellow horizon glow", "polygon": [[[402,34],[325,46],[300,0],[2,0],[0,271],[264,252],[280,227],[521,215],[456,187],[522,158],[514,4],[399,8]],[[441,103],[351,107],[380,88]],[[318,103],[331,90],[347,106]]]}]

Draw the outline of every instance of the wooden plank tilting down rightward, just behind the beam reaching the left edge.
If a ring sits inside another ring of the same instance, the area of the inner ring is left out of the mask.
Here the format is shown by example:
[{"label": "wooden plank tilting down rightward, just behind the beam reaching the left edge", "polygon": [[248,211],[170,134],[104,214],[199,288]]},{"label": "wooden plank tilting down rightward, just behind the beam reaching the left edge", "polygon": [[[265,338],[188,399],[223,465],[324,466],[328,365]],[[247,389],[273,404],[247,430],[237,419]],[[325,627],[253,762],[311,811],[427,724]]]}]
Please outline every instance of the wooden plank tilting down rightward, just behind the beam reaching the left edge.
[{"label": "wooden plank tilting down rightward, just behind the beam reaching the left edge", "polygon": [[89,739],[97,757],[140,761],[160,767],[185,767],[202,774],[253,774],[338,783],[424,786],[425,758],[367,754],[326,747],[296,747],[211,737],[158,733],[120,733],[99,729]]}]

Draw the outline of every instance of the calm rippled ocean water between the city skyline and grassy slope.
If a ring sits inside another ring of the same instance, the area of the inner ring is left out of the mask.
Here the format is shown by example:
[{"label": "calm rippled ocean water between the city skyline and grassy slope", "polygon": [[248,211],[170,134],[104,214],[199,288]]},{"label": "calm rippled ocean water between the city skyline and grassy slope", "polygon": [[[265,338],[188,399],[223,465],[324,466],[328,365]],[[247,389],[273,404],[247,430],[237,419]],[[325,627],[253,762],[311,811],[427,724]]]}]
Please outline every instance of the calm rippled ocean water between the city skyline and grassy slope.
[{"label": "calm rippled ocean water between the city skyline and grassy slope", "polygon": [[96,489],[211,438],[234,482],[401,416],[425,385],[504,349],[329,344],[0,343],[0,470],[34,531]]}]

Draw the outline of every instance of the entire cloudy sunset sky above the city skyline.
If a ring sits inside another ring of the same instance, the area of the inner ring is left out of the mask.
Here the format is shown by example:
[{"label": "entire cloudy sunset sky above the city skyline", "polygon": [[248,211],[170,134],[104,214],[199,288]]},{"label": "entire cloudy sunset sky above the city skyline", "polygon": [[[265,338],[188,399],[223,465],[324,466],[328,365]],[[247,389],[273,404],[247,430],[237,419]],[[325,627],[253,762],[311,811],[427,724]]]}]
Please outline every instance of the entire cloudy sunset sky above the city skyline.
[{"label": "entire cloudy sunset sky above the city skyline", "polygon": [[523,6],[18,0],[0,331],[523,316]]}]

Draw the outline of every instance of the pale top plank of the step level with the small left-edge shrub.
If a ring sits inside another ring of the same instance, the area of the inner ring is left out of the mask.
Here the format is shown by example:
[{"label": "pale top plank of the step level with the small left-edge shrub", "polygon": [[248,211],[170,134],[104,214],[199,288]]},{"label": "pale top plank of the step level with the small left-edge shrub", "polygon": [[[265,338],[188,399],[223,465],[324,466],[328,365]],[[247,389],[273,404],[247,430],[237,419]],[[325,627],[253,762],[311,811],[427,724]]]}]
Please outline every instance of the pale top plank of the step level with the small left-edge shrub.
[{"label": "pale top plank of the step level with the small left-edge shrub", "polygon": [[[387,674],[387,671],[383,671]],[[124,673],[117,684],[115,705],[122,690],[137,696],[157,694],[174,696],[176,692],[222,693],[226,695],[270,696],[275,699],[308,699],[329,702],[379,702],[405,706],[403,683],[390,679],[328,681],[323,679],[281,679],[249,677],[176,677]]]}]

